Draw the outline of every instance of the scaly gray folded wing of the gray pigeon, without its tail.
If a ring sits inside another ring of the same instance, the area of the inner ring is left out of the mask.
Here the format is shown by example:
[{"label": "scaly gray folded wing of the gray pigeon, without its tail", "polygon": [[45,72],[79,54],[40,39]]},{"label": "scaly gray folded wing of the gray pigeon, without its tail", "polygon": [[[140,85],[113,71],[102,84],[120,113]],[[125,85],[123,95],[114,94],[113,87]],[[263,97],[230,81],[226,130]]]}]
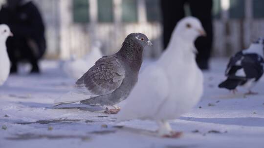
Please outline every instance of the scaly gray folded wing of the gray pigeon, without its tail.
[{"label": "scaly gray folded wing of the gray pigeon, without its tail", "polygon": [[77,88],[105,95],[115,91],[125,77],[125,70],[115,56],[103,56],[80,79]]}]

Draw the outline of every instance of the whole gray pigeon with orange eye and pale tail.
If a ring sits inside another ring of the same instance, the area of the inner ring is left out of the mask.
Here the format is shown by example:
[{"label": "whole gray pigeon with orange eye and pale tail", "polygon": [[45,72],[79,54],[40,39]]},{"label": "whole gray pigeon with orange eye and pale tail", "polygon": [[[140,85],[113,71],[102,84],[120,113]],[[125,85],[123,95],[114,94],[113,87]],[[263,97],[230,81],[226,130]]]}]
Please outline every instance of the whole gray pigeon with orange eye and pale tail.
[{"label": "whole gray pigeon with orange eye and pale tail", "polygon": [[142,52],[152,42],[141,33],[125,38],[114,55],[103,56],[76,82],[74,90],[56,99],[54,106],[81,102],[88,105],[113,106],[125,100],[137,82]]}]

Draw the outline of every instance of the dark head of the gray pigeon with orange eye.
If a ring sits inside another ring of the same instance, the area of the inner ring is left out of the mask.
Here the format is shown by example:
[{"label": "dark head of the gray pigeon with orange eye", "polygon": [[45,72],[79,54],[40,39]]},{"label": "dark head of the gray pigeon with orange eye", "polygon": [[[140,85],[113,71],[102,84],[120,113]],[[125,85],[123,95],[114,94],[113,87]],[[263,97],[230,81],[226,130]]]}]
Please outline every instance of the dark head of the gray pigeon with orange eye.
[{"label": "dark head of the gray pigeon with orange eye", "polygon": [[147,45],[152,46],[152,42],[149,40],[149,38],[141,33],[132,33],[128,35],[128,37],[125,40],[132,39],[133,41],[140,44],[142,47],[145,47]]}]

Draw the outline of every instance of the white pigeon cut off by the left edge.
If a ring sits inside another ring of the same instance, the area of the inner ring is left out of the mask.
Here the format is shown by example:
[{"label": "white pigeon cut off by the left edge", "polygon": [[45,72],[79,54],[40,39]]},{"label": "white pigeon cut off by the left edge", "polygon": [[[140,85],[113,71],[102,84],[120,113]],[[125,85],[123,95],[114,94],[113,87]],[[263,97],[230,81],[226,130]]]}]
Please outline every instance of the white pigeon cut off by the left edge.
[{"label": "white pigeon cut off by the left edge", "polygon": [[6,51],[6,39],[12,37],[9,27],[6,24],[0,24],[0,85],[6,81],[10,73],[10,60]]}]

